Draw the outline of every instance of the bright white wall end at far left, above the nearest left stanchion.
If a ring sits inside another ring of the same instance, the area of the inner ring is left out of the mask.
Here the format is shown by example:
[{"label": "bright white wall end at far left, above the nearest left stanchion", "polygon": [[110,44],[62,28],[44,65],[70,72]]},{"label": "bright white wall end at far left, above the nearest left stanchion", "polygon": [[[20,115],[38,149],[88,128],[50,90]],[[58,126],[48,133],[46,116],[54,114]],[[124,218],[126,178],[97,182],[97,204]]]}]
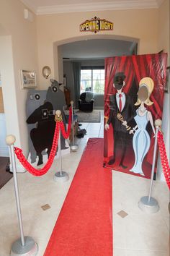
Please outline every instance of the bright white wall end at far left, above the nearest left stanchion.
[{"label": "bright white wall end at far left, above the nearest left stanchion", "polygon": [[14,81],[14,59],[12,54],[12,38],[10,35],[0,36],[0,56],[1,87],[4,99],[4,113],[6,115],[6,133],[8,135],[15,135],[17,145],[20,147],[17,95]]}]

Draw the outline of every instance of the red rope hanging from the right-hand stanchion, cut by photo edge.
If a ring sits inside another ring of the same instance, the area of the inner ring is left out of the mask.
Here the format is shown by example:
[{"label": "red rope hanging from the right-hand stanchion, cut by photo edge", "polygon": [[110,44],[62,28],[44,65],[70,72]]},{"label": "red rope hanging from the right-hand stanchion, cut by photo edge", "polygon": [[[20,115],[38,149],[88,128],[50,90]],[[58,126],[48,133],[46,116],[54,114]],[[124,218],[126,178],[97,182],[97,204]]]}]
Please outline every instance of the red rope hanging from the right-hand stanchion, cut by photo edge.
[{"label": "red rope hanging from the right-hand stanchion, cut by photo edge", "polygon": [[160,131],[158,131],[158,148],[159,148],[159,152],[161,155],[161,165],[162,165],[162,169],[164,171],[164,176],[166,179],[166,183],[170,189],[170,168],[169,168],[169,161],[168,161],[168,157],[166,154],[166,148],[165,148],[165,144],[164,144],[164,137],[161,134]]}]

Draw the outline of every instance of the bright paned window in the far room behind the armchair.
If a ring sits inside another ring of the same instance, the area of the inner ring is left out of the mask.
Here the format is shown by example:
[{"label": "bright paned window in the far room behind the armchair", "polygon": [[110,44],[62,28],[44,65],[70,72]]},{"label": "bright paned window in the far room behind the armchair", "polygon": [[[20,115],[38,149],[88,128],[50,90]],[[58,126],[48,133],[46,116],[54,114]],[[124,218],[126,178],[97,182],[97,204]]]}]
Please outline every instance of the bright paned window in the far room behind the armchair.
[{"label": "bright paned window in the far room behind the armchair", "polygon": [[104,94],[104,67],[81,67],[80,93]]}]

